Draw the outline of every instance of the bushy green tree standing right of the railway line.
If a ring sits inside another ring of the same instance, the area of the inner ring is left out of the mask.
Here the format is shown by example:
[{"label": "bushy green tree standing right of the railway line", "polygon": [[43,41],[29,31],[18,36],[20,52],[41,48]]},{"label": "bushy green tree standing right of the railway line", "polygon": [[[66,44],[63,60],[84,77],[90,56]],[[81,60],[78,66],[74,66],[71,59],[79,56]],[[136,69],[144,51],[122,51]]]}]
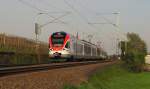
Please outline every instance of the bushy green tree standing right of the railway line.
[{"label": "bushy green tree standing right of the railway line", "polygon": [[[142,68],[145,64],[145,56],[147,54],[146,44],[139,35],[135,33],[128,33],[127,39],[127,42],[120,42],[122,59],[128,68],[135,72],[140,72],[143,70]],[[125,52],[125,54],[123,52]]]}]

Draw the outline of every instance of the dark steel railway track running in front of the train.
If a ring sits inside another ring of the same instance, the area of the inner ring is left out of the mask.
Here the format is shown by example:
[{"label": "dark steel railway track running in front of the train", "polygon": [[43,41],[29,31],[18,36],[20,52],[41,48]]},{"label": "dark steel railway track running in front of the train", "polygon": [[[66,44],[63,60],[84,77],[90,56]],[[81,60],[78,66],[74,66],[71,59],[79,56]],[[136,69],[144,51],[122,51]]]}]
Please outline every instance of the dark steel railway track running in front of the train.
[{"label": "dark steel railway track running in front of the train", "polygon": [[65,67],[82,66],[89,64],[104,63],[110,61],[86,61],[86,62],[67,62],[67,63],[51,63],[51,64],[39,64],[39,65],[29,65],[29,66],[12,66],[0,68],[0,76],[6,76],[11,74],[18,74],[23,72],[32,72],[39,70],[51,70]]}]

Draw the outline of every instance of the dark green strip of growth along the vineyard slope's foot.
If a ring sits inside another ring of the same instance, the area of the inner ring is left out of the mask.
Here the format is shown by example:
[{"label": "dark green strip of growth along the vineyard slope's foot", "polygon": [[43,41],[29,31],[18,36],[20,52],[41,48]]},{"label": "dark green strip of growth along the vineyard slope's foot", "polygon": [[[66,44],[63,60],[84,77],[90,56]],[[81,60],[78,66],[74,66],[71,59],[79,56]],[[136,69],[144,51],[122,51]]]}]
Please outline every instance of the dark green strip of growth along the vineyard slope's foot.
[{"label": "dark green strip of growth along the vineyard slope's foot", "polygon": [[36,54],[13,54],[13,55],[0,55],[0,64],[3,65],[30,65],[49,63],[48,55],[40,55],[40,61]]}]

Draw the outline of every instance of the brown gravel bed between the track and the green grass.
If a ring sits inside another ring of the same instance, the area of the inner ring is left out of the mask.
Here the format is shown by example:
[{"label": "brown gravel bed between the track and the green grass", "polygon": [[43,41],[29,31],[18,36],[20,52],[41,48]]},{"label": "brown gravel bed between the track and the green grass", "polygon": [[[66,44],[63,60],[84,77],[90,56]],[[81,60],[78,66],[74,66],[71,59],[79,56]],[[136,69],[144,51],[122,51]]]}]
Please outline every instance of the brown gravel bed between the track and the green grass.
[{"label": "brown gravel bed between the track and the green grass", "polygon": [[78,85],[88,75],[112,63],[91,64],[71,68],[44,70],[0,77],[0,89],[61,89],[64,84]]}]

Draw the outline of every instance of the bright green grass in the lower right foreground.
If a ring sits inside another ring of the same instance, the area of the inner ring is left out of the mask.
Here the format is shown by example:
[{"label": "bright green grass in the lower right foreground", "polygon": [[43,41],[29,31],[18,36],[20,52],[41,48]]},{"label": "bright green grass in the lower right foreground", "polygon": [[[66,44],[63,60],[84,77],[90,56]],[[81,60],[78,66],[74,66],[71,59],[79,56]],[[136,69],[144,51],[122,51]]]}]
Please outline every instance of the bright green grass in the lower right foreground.
[{"label": "bright green grass in the lower right foreground", "polygon": [[64,89],[150,89],[150,72],[133,73],[117,64],[96,72],[78,87]]}]

